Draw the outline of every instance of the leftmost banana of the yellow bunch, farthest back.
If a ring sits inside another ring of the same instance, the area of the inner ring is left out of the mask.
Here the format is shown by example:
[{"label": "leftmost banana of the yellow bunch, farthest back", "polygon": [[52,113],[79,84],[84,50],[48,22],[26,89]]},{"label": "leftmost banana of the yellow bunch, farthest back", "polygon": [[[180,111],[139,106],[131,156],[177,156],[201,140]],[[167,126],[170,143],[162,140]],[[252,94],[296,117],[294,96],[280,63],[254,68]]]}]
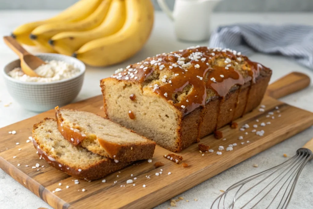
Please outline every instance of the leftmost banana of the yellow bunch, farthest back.
[{"label": "leftmost banana of the yellow bunch, farthest back", "polygon": [[33,31],[33,29],[37,28],[39,25],[56,21],[75,22],[82,20],[88,17],[91,13],[93,13],[95,9],[99,6],[101,1],[102,0],[80,0],[79,2],[73,4],[53,18],[43,21],[26,23],[17,27],[11,35],[15,39],[17,39],[19,43],[33,46],[35,44],[29,38],[29,35]]}]

